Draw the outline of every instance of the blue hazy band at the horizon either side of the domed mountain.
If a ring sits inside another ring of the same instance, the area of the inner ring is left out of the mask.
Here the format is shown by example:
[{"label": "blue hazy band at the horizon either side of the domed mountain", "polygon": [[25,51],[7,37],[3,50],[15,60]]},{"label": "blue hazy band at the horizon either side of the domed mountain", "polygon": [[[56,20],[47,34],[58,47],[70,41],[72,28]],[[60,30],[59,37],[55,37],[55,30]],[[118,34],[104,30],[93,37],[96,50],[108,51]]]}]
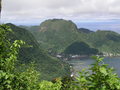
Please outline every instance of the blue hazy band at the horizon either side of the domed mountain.
[{"label": "blue hazy band at the horizon either side of the domed mountain", "polygon": [[[48,20],[48,19],[46,19]],[[23,26],[38,26],[40,25],[43,21],[37,21],[35,23],[16,23],[16,22],[6,22],[6,23],[12,23],[17,26],[23,25]],[[109,30],[109,31],[115,31],[120,33],[120,24],[119,20],[111,20],[111,21],[92,21],[92,20],[87,20],[87,21],[73,21],[78,28],[86,28],[91,31],[97,31],[97,30]]]}]

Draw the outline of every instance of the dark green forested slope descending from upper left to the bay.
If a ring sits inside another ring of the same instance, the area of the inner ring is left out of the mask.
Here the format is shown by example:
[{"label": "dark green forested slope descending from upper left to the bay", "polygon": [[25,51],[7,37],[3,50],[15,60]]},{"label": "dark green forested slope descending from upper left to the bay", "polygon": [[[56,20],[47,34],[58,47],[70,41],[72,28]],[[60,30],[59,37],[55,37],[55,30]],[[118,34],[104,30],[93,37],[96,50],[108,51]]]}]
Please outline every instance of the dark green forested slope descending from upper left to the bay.
[{"label": "dark green forested slope descending from upper left to the bay", "polygon": [[55,77],[69,75],[69,65],[62,60],[51,57],[43,50],[37,43],[34,36],[27,30],[15,26],[11,23],[7,24],[14,33],[9,35],[11,41],[23,40],[32,47],[23,47],[20,49],[19,61],[20,63],[28,64],[35,62],[36,69],[41,74],[41,79],[51,80]]}]

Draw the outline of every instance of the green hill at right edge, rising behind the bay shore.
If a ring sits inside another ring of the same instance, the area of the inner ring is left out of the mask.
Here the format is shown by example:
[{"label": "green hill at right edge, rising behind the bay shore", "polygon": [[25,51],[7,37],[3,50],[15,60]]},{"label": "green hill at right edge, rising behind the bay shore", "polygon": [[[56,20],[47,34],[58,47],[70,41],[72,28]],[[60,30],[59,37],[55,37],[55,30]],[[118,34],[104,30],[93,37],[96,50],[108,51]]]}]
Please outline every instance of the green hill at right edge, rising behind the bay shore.
[{"label": "green hill at right edge, rising behind the bay shore", "polygon": [[120,34],[116,32],[98,30],[88,34],[85,41],[104,54],[120,54]]}]

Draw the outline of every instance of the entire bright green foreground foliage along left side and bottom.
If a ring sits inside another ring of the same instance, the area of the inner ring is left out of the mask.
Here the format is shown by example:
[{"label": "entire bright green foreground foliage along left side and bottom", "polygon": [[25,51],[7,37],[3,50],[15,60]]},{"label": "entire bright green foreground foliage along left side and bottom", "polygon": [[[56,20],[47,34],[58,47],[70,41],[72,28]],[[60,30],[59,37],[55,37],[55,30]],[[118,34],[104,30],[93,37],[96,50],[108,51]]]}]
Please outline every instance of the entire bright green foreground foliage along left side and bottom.
[{"label": "entire bright green foreground foliage along left side and bottom", "polygon": [[95,56],[90,71],[82,70],[75,80],[67,77],[39,81],[40,74],[32,63],[24,71],[16,70],[18,52],[25,42],[11,43],[6,39],[9,32],[9,27],[0,26],[0,90],[120,90],[120,78],[103,63],[103,58]]}]

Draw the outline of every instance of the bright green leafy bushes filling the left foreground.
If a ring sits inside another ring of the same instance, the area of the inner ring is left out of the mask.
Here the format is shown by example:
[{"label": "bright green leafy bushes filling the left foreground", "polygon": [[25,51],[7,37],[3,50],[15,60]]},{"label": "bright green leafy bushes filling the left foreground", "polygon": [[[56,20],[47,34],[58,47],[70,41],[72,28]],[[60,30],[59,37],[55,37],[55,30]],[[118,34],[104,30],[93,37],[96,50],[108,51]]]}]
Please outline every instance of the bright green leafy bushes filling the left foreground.
[{"label": "bright green leafy bushes filling the left foreground", "polygon": [[18,51],[25,42],[15,40],[11,43],[7,39],[9,32],[8,26],[0,26],[0,90],[58,90],[60,86],[57,83],[39,82],[39,73],[33,65],[23,72],[16,70]]}]

